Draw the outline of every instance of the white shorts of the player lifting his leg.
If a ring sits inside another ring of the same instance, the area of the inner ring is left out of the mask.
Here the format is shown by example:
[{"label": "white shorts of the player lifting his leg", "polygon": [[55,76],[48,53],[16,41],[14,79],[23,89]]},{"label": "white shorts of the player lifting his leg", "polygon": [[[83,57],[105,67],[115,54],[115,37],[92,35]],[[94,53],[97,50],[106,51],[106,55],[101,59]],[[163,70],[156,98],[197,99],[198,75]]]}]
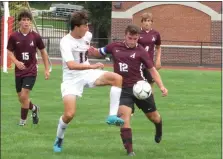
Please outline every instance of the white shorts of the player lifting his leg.
[{"label": "white shorts of the player lifting his leg", "polygon": [[103,70],[88,70],[86,73],[74,78],[73,80],[64,81],[61,84],[62,97],[66,95],[82,96],[84,87],[95,87],[95,81],[107,71]]}]

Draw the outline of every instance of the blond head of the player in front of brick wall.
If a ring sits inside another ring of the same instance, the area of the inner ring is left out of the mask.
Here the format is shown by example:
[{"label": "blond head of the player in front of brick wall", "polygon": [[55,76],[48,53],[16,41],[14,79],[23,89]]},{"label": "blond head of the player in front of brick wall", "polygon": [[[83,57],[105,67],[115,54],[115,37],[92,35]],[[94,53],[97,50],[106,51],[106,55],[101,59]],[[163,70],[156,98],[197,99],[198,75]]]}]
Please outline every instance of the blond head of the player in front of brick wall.
[{"label": "blond head of the player in front of brick wall", "polygon": [[141,24],[142,24],[142,29],[144,30],[150,30],[152,28],[153,24],[153,15],[152,13],[143,13],[141,15]]}]

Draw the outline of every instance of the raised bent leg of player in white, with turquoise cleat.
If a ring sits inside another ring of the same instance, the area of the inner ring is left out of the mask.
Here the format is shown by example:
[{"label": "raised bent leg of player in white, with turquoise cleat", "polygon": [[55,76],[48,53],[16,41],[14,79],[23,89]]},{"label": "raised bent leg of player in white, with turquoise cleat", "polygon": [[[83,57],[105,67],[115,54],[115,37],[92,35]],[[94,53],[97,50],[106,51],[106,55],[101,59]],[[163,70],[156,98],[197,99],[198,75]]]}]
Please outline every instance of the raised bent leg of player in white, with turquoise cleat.
[{"label": "raised bent leg of player in white, with turquoise cleat", "polygon": [[122,76],[114,72],[107,72],[102,70],[92,70],[88,76],[91,76],[91,80],[88,81],[90,87],[105,85],[112,86],[110,90],[110,110],[107,123],[110,125],[122,125],[124,121],[117,117],[122,90]]}]

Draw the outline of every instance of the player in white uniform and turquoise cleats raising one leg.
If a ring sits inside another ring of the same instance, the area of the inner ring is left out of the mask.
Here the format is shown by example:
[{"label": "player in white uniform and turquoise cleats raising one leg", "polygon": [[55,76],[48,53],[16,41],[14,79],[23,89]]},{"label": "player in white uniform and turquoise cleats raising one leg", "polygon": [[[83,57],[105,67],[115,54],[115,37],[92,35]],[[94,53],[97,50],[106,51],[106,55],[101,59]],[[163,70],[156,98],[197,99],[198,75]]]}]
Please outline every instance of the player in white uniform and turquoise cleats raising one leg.
[{"label": "player in white uniform and turquoise cleats raising one leg", "polygon": [[104,67],[102,63],[90,64],[87,58],[92,38],[92,34],[88,32],[87,12],[74,12],[70,25],[71,32],[60,42],[63,59],[61,93],[64,114],[59,118],[54,152],[62,151],[64,132],[76,113],[76,99],[82,96],[84,87],[111,85],[110,112],[106,122],[110,125],[124,124],[124,120],[117,117],[122,77],[114,72],[101,70]]}]

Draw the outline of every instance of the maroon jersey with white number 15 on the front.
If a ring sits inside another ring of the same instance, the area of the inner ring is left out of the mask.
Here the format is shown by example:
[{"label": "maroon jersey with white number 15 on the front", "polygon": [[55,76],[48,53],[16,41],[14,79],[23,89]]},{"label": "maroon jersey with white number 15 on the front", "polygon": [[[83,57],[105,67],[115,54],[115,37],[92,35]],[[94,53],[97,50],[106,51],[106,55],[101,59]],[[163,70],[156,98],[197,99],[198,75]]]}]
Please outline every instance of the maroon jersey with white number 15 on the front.
[{"label": "maroon jersey with white number 15 on the front", "polygon": [[23,35],[20,31],[16,31],[11,34],[7,49],[13,52],[16,59],[26,66],[24,70],[19,70],[15,66],[15,75],[17,77],[37,75],[37,48],[42,50],[45,46],[40,35],[36,32],[30,31],[27,35]]}]

